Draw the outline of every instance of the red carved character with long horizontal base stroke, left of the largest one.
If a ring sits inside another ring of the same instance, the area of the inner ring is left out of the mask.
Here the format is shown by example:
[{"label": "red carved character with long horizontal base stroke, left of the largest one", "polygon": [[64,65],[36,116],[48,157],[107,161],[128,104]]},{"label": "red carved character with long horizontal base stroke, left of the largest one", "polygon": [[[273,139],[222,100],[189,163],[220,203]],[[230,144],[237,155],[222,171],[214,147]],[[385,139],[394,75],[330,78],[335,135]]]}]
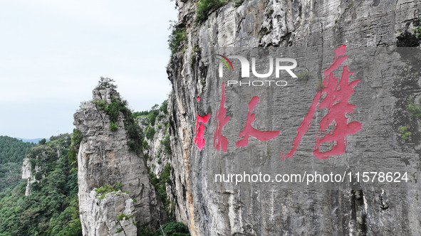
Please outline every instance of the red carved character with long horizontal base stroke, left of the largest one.
[{"label": "red carved character with long horizontal base stroke, left of the largest one", "polygon": [[249,144],[249,136],[254,136],[260,141],[268,141],[279,135],[279,131],[260,131],[251,127],[251,123],[256,120],[256,114],[251,111],[259,103],[259,97],[252,97],[249,102],[249,114],[247,114],[246,127],[239,132],[239,137],[244,136],[235,144],[236,146],[247,146]]}]

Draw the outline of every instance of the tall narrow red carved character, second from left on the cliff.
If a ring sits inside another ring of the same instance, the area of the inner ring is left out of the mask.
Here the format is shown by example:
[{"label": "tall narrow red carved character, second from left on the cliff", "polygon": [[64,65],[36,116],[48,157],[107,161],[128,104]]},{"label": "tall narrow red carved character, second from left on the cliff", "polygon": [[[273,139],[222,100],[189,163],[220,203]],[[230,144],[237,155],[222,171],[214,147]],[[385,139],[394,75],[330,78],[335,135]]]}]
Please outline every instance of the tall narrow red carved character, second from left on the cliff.
[{"label": "tall narrow red carved character, second from left on the cliff", "polygon": [[217,127],[215,128],[214,132],[214,148],[219,151],[227,152],[228,150],[228,139],[226,136],[222,135],[222,128],[225,124],[229,121],[229,116],[225,116],[227,114],[227,108],[225,108],[225,82],[222,82],[222,96],[221,102],[219,102],[219,111],[215,115],[215,121],[217,122]]}]

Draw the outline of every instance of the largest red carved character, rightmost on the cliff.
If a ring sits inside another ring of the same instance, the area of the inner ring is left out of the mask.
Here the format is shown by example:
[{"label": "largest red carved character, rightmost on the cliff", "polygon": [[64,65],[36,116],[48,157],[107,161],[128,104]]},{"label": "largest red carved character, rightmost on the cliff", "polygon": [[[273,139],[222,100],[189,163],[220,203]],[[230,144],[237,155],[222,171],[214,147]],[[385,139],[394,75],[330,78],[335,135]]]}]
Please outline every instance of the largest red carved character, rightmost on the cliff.
[{"label": "largest red carved character, rightmost on the cliff", "polygon": [[[328,159],[331,156],[341,155],[345,153],[346,149],[346,136],[348,134],[355,134],[361,129],[362,124],[360,122],[348,122],[346,114],[353,114],[355,104],[349,104],[348,100],[350,95],[353,95],[354,89],[360,80],[354,80],[349,82],[349,76],[353,74],[348,70],[348,66],[343,66],[341,80],[338,82],[338,77],[333,75],[333,71],[339,68],[342,63],[348,58],[347,55],[344,55],[339,58],[339,56],[345,54],[346,48],[345,45],[335,49],[335,59],[331,67],[324,71],[326,76],[323,80],[323,90],[316,93],[316,96],[311,103],[308,113],[301,122],[300,127],[297,129],[297,136],[293,139],[293,148],[289,151],[288,154],[283,154],[281,152],[281,159],[291,158],[294,152],[298,148],[302,137],[308,131],[311,125],[311,119],[313,119],[313,114],[318,109],[327,108],[328,114],[321,119],[319,123],[320,128],[318,134],[316,135],[316,146],[313,149],[313,154],[318,159]],[[321,98],[321,95],[326,93],[326,97],[323,102],[318,103],[318,100]],[[333,124],[335,121],[335,124]],[[325,131],[326,128],[333,124],[334,129],[323,137],[319,137],[320,133]],[[333,145],[332,149],[329,151],[321,152],[320,146],[323,143],[336,143]]]}]

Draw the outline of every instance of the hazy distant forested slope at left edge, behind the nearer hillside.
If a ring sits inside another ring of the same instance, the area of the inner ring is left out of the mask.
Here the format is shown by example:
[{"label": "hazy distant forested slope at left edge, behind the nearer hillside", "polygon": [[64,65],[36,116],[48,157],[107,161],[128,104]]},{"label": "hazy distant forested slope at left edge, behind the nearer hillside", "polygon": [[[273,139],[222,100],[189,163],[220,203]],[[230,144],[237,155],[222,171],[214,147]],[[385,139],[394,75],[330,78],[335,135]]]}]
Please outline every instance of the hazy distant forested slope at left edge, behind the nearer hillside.
[{"label": "hazy distant forested slope at left edge, behind the nearer hillside", "polygon": [[22,162],[33,146],[35,144],[0,136],[0,192],[19,183]]}]

